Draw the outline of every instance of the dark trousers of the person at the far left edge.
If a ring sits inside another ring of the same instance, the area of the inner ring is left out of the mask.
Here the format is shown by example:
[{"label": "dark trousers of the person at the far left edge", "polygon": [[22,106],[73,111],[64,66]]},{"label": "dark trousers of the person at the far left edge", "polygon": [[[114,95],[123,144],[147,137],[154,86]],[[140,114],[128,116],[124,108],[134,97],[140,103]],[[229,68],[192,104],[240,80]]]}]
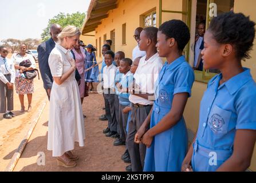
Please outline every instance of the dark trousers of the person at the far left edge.
[{"label": "dark trousers of the person at the far left edge", "polygon": [[[9,82],[11,81],[11,75],[6,75],[5,77]],[[5,113],[6,108],[9,111],[13,110],[13,89],[7,89],[7,85],[0,81],[0,113]]]}]

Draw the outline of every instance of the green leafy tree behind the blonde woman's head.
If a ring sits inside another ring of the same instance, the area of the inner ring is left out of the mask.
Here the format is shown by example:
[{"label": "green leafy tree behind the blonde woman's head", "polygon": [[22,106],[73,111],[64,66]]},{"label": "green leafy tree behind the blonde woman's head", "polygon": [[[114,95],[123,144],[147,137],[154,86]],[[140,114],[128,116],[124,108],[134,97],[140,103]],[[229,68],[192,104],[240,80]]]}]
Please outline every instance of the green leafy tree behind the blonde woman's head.
[{"label": "green leafy tree behind the blonde woman's head", "polygon": [[68,25],[73,25],[76,27],[82,27],[82,23],[84,22],[85,13],[77,13],[73,14],[65,14],[59,13],[58,15],[54,16],[52,19],[49,19],[48,26],[43,30],[41,34],[42,41],[46,41],[50,38],[50,26],[53,23],[60,24],[63,28]]}]

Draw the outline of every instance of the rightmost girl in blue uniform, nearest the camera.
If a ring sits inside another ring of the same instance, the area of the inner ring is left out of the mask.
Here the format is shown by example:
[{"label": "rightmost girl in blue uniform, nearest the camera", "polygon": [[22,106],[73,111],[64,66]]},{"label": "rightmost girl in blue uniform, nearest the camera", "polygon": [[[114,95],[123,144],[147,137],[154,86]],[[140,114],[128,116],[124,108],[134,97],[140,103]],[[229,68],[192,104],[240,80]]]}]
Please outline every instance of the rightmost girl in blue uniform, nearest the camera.
[{"label": "rightmost girl in blue uniform, nearest the camera", "polygon": [[250,58],[255,23],[239,13],[212,19],[204,35],[204,69],[219,69],[200,104],[199,127],[183,171],[245,171],[256,140],[256,84],[241,60]]}]

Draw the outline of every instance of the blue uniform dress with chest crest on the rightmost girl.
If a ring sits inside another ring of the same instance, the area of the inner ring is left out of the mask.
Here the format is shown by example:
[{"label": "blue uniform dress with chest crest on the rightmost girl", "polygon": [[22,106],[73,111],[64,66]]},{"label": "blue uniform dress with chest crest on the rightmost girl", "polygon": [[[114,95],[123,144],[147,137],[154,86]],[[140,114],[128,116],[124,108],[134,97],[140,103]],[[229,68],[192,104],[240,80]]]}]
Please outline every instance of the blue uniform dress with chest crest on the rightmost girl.
[{"label": "blue uniform dress with chest crest on the rightmost girl", "polygon": [[233,154],[237,130],[256,130],[256,84],[250,69],[219,86],[221,78],[218,74],[211,79],[200,104],[194,171],[215,171]]}]

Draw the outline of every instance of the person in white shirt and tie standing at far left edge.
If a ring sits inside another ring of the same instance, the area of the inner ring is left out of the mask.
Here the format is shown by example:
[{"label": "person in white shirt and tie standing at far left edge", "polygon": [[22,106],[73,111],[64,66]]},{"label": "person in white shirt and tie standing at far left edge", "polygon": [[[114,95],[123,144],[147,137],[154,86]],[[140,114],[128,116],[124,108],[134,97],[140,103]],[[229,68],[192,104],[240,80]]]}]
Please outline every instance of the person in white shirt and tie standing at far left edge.
[{"label": "person in white shirt and tie standing at far left edge", "polygon": [[0,46],[0,54],[0,113],[5,113],[3,114],[3,118],[11,119],[15,117],[15,115],[11,112],[11,110],[13,110],[13,85],[15,81],[15,69],[14,64],[6,58],[8,50],[5,46]]}]

